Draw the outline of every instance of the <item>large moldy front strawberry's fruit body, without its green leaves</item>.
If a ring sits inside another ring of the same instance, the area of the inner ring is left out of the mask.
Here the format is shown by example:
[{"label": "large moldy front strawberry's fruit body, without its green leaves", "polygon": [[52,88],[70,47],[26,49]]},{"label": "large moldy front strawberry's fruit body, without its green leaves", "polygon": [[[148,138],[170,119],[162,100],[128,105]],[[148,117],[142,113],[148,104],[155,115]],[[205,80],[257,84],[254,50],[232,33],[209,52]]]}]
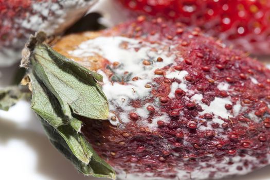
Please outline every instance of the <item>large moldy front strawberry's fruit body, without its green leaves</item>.
[{"label": "large moldy front strawberry's fruit body, without its green leaves", "polygon": [[221,178],[270,163],[270,70],[246,53],[143,16],[55,49],[103,75],[110,122],[83,119],[82,133],[120,179]]}]

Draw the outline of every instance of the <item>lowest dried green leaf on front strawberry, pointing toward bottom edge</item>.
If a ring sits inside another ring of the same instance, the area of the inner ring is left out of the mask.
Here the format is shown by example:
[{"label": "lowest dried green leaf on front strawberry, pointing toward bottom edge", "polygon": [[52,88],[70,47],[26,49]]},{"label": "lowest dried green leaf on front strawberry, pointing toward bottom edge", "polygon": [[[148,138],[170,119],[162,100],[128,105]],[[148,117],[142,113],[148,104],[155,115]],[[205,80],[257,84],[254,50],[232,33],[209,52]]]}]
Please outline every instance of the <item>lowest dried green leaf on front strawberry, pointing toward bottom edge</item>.
[{"label": "lowest dried green leaf on front strawberry, pointing toward bottom edge", "polygon": [[[116,174],[112,167],[106,164],[106,162],[96,154],[91,145],[84,139],[82,135],[77,134],[68,126],[63,126],[63,128],[61,127],[61,132],[55,131],[55,129],[43,118],[41,118],[41,122],[53,146],[55,146],[63,155],[65,155],[65,157],[74,164],[78,171],[87,176],[116,179]],[[65,132],[64,135],[62,134],[62,131]],[[67,139],[68,141],[66,141]],[[80,161],[79,158],[74,154],[75,150],[70,149],[71,143],[78,143],[77,146],[83,148],[83,151],[81,151],[82,149],[79,151],[77,150],[77,156],[80,154],[82,158],[85,158],[87,161],[87,154],[88,156],[91,155],[88,164]]]}]

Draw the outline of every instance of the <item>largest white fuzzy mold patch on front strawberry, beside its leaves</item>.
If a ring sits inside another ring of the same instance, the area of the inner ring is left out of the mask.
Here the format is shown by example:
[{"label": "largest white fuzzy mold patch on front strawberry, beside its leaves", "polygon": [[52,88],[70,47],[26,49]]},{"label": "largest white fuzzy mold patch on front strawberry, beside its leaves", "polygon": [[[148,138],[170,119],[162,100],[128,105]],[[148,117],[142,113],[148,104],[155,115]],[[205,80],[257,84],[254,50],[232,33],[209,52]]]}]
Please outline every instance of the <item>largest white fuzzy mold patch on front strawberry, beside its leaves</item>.
[{"label": "largest white fuzzy mold patch on front strawberry, beside its leaves", "polygon": [[[125,48],[121,47],[122,43],[125,43]],[[135,48],[139,48],[139,50],[136,51]],[[169,49],[173,50],[173,48],[174,47],[170,46]],[[137,121],[140,125],[154,130],[158,127],[156,122],[160,118],[162,118],[165,123],[169,122],[171,119],[166,113],[159,111],[158,100],[137,108],[129,104],[131,99],[135,100],[151,97],[150,92],[152,88],[151,86],[150,88],[146,88],[145,85],[148,82],[152,82],[155,77],[159,77],[159,75],[155,75],[154,71],[168,64],[175,63],[175,56],[168,56],[169,51],[165,44],[150,44],[119,36],[98,37],[82,42],[75,50],[69,51],[69,54],[73,57],[89,57],[98,54],[111,63],[119,63],[119,66],[114,69],[115,73],[124,75],[125,72],[129,72],[132,74],[131,78],[135,75],[138,77],[138,80],[128,80],[127,84],[123,85],[119,82],[110,82],[109,77],[107,77],[102,70],[98,70],[98,73],[103,75],[102,90],[109,101],[109,119],[116,117],[115,121],[110,120],[113,125],[122,127],[125,123],[129,123],[129,114],[132,112],[147,119],[147,117],[149,117],[149,111],[146,109],[148,105],[154,106],[155,111],[158,111],[159,115],[158,117],[154,116],[151,123],[149,123],[148,120]],[[163,61],[157,62],[156,59],[158,57],[162,58]],[[153,62],[151,65],[146,66],[143,65],[143,60],[153,60]],[[185,75],[188,74],[187,71],[184,70],[181,71],[181,73]],[[183,80],[183,77],[181,80]],[[115,107],[120,107],[123,112],[117,112]]]}]

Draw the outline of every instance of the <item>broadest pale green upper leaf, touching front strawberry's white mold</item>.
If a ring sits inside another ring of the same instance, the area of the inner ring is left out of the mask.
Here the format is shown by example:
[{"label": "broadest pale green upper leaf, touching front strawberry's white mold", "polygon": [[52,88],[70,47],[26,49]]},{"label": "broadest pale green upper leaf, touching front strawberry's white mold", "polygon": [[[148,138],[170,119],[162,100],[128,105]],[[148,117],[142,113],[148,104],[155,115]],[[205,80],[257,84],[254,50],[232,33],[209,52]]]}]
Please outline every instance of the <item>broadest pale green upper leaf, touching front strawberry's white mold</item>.
[{"label": "broadest pale green upper leaf, touching front strawberry's white mold", "polygon": [[91,119],[107,119],[107,99],[96,82],[102,80],[101,75],[44,44],[35,47],[30,61],[34,74],[56,96],[66,116],[71,118],[72,111]]}]

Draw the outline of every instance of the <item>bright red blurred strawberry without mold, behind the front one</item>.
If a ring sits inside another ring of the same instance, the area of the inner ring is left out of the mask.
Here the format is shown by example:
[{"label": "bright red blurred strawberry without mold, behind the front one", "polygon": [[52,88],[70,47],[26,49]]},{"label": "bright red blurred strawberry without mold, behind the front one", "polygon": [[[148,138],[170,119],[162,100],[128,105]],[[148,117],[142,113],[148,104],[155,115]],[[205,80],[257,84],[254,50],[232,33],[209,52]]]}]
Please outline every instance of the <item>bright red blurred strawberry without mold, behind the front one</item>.
[{"label": "bright red blurred strawberry without mold, behind the front one", "polygon": [[137,12],[162,15],[199,26],[227,44],[257,55],[270,54],[267,0],[120,0]]}]

